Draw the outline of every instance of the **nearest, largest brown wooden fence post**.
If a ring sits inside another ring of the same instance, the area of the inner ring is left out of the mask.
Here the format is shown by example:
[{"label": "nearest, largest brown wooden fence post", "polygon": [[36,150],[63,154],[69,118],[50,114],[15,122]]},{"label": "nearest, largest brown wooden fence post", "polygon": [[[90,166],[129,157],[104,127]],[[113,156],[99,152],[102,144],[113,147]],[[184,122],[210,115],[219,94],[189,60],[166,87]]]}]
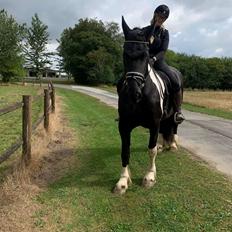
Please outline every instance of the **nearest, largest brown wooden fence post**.
[{"label": "nearest, largest brown wooden fence post", "polygon": [[28,165],[31,160],[31,96],[23,96],[23,122],[22,122],[23,151],[22,160]]}]

